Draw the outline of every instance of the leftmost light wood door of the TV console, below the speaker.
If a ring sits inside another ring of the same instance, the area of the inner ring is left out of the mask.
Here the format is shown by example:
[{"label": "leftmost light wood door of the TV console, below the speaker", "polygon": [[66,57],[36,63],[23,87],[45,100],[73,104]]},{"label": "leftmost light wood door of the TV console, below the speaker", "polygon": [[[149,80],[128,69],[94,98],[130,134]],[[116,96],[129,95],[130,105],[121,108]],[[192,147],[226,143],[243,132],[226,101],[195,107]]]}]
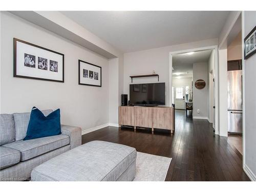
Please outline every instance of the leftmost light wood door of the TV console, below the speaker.
[{"label": "leftmost light wood door of the TV console, below the speaker", "polygon": [[133,106],[119,106],[119,124],[134,126]]}]

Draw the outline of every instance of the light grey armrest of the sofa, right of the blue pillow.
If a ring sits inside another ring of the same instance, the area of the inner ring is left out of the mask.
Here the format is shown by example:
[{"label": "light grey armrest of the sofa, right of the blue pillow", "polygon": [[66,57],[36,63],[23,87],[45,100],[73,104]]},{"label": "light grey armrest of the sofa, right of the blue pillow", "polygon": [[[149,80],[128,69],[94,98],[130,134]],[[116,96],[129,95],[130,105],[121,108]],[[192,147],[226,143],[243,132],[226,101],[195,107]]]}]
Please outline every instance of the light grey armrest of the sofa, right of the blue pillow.
[{"label": "light grey armrest of the sofa, right of the blue pillow", "polygon": [[61,125],[61,133],[70,138],[70,149],[82,144],[82,130],[80,127]]}]

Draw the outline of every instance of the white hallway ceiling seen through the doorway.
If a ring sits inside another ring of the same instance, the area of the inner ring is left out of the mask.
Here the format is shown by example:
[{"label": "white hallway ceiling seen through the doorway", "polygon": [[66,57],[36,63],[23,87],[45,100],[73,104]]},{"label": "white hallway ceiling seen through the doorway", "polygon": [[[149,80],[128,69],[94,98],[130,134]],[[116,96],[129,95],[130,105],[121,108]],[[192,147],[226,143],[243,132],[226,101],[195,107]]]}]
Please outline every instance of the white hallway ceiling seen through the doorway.
[{"label": "white hallway ceiling seen through the doorway", "polygon": [[[187,53],[173,55],[173,78],[193,77],[193,63],[207,62],[212,50],[197,51],[189,55]],[[180,74],[179,74],[180,73]]]}]

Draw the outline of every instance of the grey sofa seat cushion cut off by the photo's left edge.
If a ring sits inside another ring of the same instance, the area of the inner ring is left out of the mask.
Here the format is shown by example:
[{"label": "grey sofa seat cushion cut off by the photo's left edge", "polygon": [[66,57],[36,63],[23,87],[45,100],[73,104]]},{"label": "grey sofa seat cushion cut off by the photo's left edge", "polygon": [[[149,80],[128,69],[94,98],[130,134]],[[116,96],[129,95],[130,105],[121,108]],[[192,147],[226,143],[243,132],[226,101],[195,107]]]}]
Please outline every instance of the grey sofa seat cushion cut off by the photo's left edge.
[{"label": "grey sofa seat cushion cut off by the photo's left edge", "polygon": [[17,164],[20,161],[20,152],[13,148],[0,146],[0,169]]}]

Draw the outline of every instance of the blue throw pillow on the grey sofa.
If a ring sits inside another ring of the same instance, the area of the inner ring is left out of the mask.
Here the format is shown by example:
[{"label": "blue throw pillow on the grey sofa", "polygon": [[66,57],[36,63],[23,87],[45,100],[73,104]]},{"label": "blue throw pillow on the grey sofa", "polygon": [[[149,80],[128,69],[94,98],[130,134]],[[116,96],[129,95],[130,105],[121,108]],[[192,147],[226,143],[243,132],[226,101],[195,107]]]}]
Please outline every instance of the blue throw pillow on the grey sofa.
[{"label": "blue throw pillow on the grey sofa", "polygon": [[60,135],[60,110],[50,113],[45,116],[40,110],[33,106],[27,136],[23,140]]}]

